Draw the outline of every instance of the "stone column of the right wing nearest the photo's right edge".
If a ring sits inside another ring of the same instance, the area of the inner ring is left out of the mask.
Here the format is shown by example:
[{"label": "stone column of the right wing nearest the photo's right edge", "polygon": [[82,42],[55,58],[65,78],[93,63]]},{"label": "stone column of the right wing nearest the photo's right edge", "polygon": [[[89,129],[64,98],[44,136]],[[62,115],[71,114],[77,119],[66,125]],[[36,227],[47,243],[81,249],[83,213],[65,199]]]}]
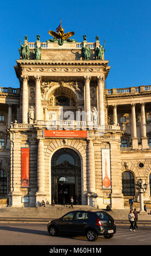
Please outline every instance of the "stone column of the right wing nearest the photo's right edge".
[{"label": "stone column of the right wing nearest the photo's right edge", "polygon": [[141,103],[141,139],[142,139],[142,149],[148,149],[148,139],[146,137],[146,117],[145,117],[145,102]]}]

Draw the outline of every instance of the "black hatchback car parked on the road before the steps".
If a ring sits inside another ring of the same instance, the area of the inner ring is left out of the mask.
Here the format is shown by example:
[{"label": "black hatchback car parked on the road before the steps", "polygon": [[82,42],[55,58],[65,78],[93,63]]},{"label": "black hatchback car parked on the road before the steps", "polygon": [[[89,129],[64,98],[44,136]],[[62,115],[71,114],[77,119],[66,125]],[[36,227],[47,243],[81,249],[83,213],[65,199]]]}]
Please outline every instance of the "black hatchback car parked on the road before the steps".
[{"label": "black hatchback car parked on the road before the steps", "polygon": [[86,235],[89,241],[97,240],[98,235],[111,238],[116,233],[114,219],[104,211],[70,211],[57,220],[49,221],[48,232]]}]

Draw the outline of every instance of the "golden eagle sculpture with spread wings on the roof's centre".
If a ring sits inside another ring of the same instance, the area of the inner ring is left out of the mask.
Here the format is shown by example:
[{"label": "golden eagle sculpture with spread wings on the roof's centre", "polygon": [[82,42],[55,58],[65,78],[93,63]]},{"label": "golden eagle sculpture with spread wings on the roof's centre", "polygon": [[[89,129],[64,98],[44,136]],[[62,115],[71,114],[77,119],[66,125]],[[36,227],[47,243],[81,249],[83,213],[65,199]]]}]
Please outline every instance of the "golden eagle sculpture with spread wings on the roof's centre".
[{"label": "golden eagle sculpture with spread wings on the roof's centre", "polygon": [[[65,33],[64,32],[64,28],[62,28],[62,26],[61,26],[61,23],[60,23],[59,27],[56,28],[56,31],[58,33],[54,32],[54,31],[51,31],[51,30],[48,31],[49,35],[52,35],[53,38],[54,38],[54,39],[48,40],[48,41],[56,41],[56,40],[58,40],[59,41],[59,45],[64,44],[64,40],[67,40],[68,38],[70,38],[71,36],[74,35],[74,32]],[[75,40],[71,39],[70,41],[75,41]]]}]

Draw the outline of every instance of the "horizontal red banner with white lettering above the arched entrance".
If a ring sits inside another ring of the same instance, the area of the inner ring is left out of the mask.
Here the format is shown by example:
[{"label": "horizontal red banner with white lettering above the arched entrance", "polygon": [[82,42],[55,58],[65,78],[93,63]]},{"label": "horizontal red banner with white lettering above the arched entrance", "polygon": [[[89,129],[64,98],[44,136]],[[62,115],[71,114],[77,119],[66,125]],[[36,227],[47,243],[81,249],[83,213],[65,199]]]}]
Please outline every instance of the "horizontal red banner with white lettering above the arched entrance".
[{"label": "horizontal red banner with white lettering above the arched entrance", "polygon": [[87,138],[87,131],[45,130],[43,137]]}]

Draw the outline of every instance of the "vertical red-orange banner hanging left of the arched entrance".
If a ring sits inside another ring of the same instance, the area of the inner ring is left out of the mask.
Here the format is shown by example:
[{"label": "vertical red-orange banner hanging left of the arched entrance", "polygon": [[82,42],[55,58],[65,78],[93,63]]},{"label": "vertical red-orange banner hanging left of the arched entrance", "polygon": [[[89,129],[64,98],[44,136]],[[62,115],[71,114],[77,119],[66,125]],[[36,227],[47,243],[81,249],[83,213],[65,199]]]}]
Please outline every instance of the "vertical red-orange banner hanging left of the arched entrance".
[{"label": "vertical red-orange banner hanging left of the arched entrance", "polygon": [[21,148],[21,187],[29,187],[29,148]]}]

